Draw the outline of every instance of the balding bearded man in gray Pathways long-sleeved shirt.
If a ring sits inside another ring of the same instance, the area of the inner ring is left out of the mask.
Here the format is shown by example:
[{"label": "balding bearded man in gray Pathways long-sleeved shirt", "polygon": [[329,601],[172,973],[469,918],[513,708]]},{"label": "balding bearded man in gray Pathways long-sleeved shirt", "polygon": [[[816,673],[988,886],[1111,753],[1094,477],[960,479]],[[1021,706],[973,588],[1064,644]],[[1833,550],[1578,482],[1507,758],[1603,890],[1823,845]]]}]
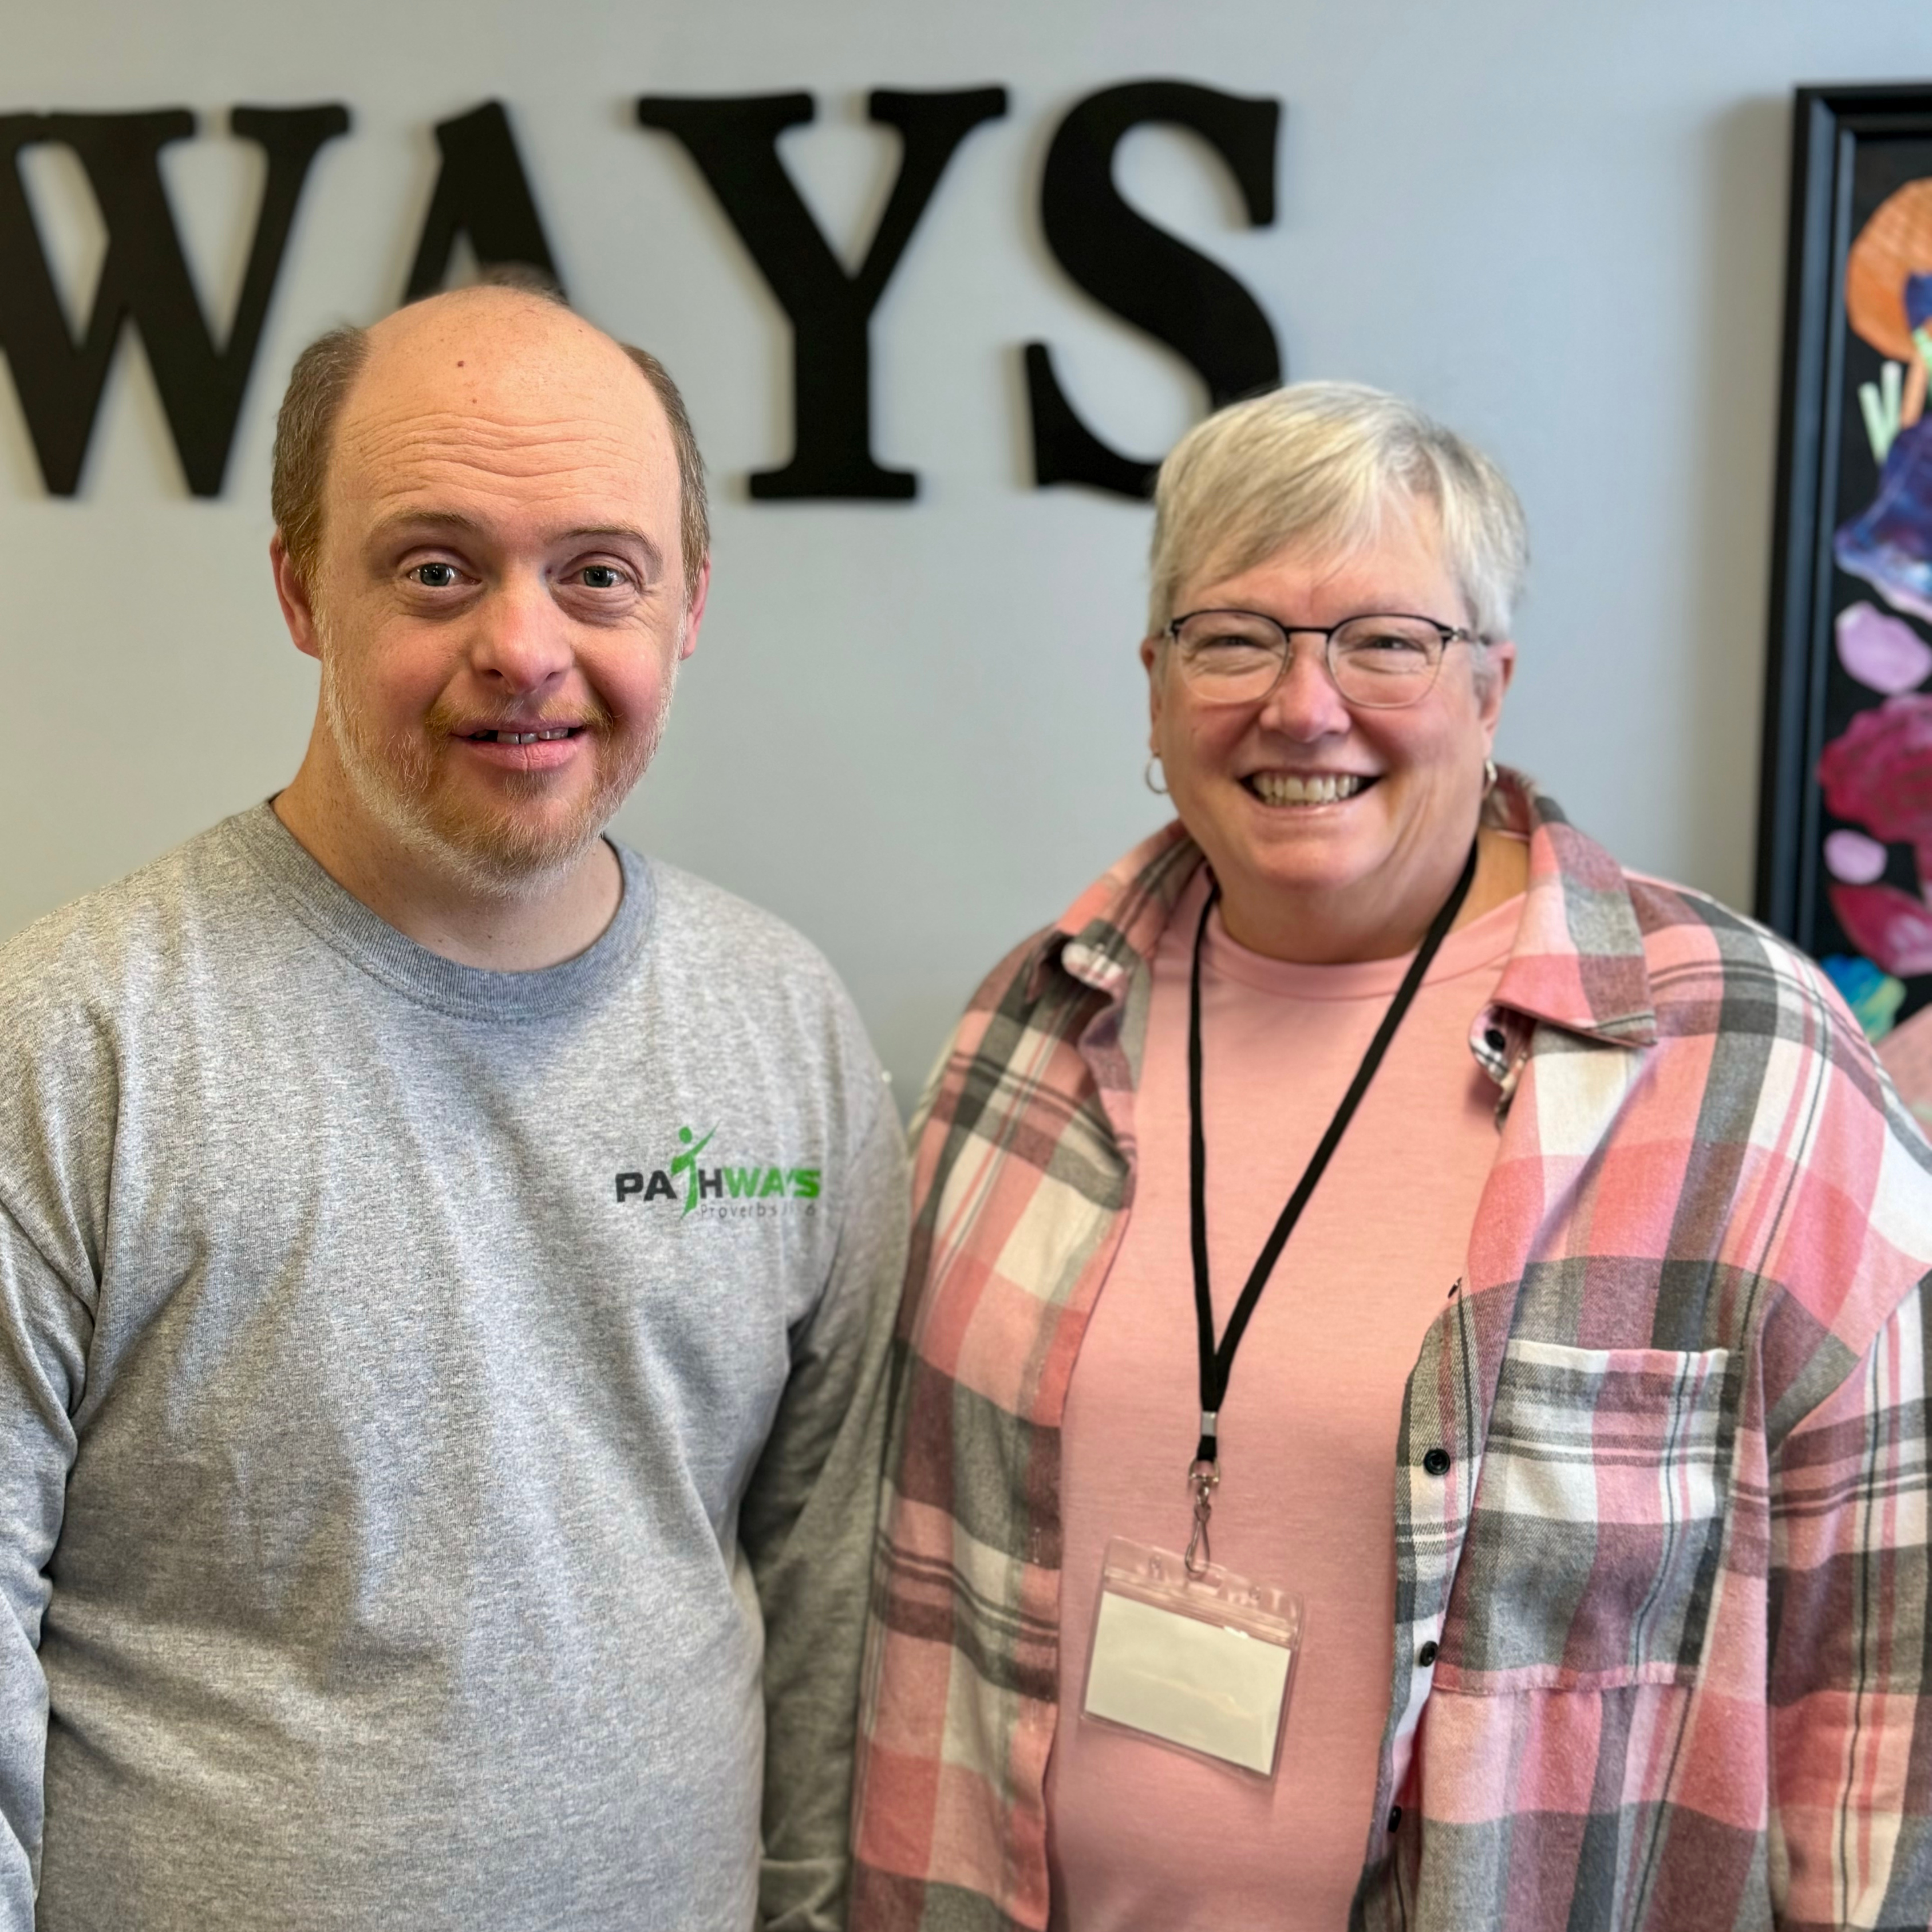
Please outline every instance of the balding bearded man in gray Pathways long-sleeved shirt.
[{"label": "balding bearded man in gray Pathways long-sleeved shirt", "polygon": [[274,510],[294,782],[0,949],[0,1926],[837,1924],[902,1142],[601,837],[676,390],[440,296],[303,355]]}]

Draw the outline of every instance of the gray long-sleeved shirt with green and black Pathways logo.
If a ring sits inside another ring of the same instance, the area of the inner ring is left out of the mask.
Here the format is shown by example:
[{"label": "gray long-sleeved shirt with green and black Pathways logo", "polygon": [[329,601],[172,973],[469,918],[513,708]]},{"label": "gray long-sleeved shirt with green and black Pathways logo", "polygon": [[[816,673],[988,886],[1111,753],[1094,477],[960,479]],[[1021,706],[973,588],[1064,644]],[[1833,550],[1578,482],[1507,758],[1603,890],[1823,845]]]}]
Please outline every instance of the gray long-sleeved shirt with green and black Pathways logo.
[{"label": "gray long-sleeved shirt with green and black Pathways logo", "polygon": [[742,1932],[761,1795],[837,1922],[898,1121],[622,862],[493,974],[263,806],[0,949],[0,1932]]}]

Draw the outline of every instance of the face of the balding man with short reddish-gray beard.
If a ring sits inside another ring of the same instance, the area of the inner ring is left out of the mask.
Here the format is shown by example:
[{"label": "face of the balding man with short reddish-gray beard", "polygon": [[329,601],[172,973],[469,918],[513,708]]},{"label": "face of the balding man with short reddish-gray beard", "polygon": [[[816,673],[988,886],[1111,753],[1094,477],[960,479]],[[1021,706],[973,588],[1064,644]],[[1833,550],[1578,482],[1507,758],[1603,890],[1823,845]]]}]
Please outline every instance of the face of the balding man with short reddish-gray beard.
[{"label": "face of the balding man with short reddish-gray beard", "polygon": [[663,730],[703,585],[670,425],[568,311],[508,292],[371,332],[307,587],[354,806],[471,889],[589,848]]}]

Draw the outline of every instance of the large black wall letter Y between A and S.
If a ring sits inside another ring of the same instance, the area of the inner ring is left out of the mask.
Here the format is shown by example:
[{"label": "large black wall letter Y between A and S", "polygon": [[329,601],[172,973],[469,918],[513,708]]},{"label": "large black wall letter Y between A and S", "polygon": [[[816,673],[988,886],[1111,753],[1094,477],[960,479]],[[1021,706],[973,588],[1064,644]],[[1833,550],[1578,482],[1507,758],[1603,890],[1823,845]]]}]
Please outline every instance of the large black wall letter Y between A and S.
[{"label": "large black wall letter Y between A and S", "polygon": [[811,95],[638,102],[645,128],[676,135],[792,319],[792,460],[752,475],[753,497],[916,497],[910,469],[871,454],[871,313],[960,141],[1007,112],[1005,87],[877,91],[866,112],[898,129],[893,197],[858,274],[846,274],[779,158],[779,135],[810,122]]}]

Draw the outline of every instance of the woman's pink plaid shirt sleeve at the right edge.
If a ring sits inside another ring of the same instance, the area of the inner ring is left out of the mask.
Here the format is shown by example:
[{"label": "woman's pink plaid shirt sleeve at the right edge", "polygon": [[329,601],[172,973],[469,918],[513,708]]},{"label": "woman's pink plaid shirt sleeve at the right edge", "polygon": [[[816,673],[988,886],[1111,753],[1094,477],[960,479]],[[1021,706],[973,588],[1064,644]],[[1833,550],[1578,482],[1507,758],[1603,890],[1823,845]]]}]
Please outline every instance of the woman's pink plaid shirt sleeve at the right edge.
[{"label": "woman's pink plaid shirt sleeve at the right edge", "polygon": [[1772,1461],[1768,1876],[1787,1932],[1932,1922],[1928,1283]]}]

